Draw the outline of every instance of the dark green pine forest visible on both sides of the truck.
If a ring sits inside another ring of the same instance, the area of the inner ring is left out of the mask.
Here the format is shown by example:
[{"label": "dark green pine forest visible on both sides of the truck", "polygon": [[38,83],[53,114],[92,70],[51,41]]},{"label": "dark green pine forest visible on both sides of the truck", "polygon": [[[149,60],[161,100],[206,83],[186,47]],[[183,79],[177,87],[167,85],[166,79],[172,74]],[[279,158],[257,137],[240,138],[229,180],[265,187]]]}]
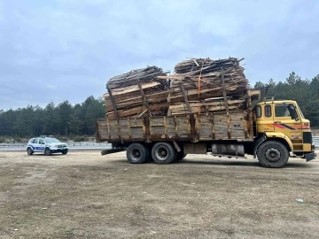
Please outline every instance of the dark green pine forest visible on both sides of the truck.
[{"label": "dark green pine forest visible on both sides of the truck", "polygon": [[[319,74],[312,80],[302,80],[292,72],[285,81],[258,81],[254,88],[263,89],[267,98],[296,100],[312,127],[319,127]],[[95,135],[95,122],[101,118],[105,118],[101,97],[89,96],[82,104],[74,105],[68,101],[43,108],[28,105],[0,111],[0,136]]]}]

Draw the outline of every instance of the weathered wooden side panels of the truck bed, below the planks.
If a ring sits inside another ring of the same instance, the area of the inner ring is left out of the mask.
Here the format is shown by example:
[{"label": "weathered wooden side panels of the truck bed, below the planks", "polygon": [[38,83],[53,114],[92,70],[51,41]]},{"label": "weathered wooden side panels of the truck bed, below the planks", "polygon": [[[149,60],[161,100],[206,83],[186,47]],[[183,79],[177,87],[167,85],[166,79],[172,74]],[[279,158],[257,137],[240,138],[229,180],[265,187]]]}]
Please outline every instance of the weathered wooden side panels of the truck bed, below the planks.
[{"label": "weathered wooden side panels of the truck bed, below the planks", "polygon": [[183,114],[137,119],[97,120],[97,142],[196,143],[210,140],[253,141],[253,120],[245,111]]}]

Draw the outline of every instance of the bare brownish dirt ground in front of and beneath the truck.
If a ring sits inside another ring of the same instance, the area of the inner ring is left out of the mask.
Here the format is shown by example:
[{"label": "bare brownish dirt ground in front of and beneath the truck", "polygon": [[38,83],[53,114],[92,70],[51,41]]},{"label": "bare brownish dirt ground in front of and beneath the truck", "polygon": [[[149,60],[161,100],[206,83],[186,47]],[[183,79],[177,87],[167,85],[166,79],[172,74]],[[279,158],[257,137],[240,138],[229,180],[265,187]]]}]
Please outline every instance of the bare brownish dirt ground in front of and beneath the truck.
[{"label": "bare brownish dirt ground in front of and beneath the truck", "polygon": [[[318,238],[319,160],[0,153],[0,238]],[[303,203],[296,199],[302,199]]]}]

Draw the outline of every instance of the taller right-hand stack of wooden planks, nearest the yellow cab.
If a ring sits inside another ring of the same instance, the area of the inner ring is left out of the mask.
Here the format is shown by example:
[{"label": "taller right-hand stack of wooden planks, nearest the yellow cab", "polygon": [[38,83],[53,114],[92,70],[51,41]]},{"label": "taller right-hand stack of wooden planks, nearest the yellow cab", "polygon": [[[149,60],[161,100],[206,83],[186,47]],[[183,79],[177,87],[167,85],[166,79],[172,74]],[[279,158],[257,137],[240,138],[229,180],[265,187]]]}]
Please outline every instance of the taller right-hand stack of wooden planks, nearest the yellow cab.
[{"label": "taller right-hand stack of wooden planks, nearest the yellow cab", "polygon": [[248,80],[239,65],[241,60],[191,58],[178,63],[175,74],[169,76],[173,81],[168,114],[245,109]]}]

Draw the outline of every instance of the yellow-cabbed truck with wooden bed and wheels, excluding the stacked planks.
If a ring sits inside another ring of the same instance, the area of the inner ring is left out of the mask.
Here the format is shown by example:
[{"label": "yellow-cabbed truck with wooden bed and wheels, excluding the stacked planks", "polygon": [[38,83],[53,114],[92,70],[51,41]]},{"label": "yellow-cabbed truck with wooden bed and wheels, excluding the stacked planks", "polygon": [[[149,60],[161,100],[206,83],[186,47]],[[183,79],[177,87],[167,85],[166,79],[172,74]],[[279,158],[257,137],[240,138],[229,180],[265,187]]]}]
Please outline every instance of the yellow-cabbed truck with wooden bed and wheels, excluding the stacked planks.
[{"label": "yellow-cabbed truck with wooden bed and wheels, excluding the stacked planks", "polygon": [[284,167],[290,157],[315,159],[310,121],[296,101],[264,99],[248,111],[177,116],[147,116],[140,119],[99,119],[97,143],[112,143],[102,155],[126,150],[128,162],[143,164],[150,158],[170,164],[187,154],[215,157],[258,158],[261,166]]}]

